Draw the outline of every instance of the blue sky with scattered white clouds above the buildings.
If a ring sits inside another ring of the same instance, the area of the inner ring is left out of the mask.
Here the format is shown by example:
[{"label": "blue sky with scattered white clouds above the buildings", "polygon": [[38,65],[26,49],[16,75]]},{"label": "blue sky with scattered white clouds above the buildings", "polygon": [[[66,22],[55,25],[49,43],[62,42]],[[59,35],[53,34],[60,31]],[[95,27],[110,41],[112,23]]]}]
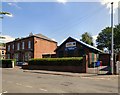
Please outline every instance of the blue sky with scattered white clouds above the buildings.
[{"label": "blue sky with scattered white clouds above the buildings", "polygon": [[[107,26],[111,26],[110,6],[103,2],[2,2],[2,11],[11,15],[2,19],[1,35],[7,41],[41,33],[60,45],[69,36],[80,39],[89,32],[94,41]],[[116,8],[116,5],[115,5]],[[118,24],[114,10],[114,25]],[[0,21],[1,23],[1,21]]]}]

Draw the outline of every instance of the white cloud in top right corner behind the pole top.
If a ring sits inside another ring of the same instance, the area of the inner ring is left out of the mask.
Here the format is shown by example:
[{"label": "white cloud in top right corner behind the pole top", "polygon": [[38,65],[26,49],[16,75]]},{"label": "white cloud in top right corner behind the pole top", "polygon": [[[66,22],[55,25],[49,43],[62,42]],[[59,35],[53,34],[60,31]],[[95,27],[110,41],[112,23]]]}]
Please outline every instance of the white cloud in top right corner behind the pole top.
[{"label": "white cloud in top right corner behind the pole top", "polygon": [[[111,10],[111,2],[113,2],[113,9],[114,9],[114,13],[116,12],[116,9],[118,8],[118,2],[120,0],[101,0],[101,4],[105,5],[106,8],[108,8],[109,10]],[[111,12],[111,11],[110,11]]]}]

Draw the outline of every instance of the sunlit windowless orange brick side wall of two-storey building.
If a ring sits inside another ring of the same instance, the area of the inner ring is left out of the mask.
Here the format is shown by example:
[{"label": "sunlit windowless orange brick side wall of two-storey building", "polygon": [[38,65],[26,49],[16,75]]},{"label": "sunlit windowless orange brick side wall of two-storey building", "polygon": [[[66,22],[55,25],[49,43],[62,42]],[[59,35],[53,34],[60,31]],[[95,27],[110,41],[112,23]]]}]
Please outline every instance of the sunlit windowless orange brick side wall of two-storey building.
[{"label": "sunlit windowless orange brick side wall of two-storey building", "polygon": [[56,42],[34,38],[34,58],[42,58],[42,54],[55,54],[56,48]]}]

